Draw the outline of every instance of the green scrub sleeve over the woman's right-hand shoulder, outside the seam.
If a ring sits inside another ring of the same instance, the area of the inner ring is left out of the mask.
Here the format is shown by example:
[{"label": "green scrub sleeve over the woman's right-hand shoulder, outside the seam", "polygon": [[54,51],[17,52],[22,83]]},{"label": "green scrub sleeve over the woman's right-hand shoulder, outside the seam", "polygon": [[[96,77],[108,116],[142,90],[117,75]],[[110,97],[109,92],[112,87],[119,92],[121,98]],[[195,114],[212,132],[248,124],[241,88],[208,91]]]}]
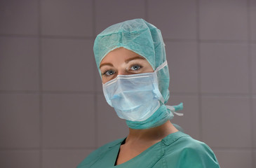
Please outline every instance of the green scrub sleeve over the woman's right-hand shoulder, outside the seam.
[{"label": "green scrub sleeve over the woman's right-hand shoulder, outside the seam", "polygon": [[173,162],[177,167],[219,168],[215,154],[205,143],[183,134],[166,146],[167,162]]}]

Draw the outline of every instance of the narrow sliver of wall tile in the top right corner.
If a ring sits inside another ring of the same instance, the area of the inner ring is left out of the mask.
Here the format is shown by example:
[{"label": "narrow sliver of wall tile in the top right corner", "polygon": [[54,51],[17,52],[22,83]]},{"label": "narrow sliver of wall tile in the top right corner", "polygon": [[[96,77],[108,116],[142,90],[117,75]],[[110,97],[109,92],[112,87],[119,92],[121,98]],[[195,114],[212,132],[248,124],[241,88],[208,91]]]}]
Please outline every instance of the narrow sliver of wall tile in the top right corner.
[{"label": "narrow sliver of wall tile in the top right corner", "polygon": [[250,0],[250,35],[253,41],[256,41],[256,1]]}]

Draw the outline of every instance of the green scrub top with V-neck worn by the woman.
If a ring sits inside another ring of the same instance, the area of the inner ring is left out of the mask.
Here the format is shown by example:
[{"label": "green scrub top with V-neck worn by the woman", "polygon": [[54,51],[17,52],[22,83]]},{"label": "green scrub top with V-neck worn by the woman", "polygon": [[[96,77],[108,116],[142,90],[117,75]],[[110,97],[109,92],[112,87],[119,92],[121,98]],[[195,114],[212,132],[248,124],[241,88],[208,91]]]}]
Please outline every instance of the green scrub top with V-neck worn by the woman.
[{"label": "green scrub top with V-neck worn by the woman", "polygon": [[213,151],[203,142],[183,132],[175,132],[147,148],[135,158],[116,165],[119,148],[125,139],[112,141],[98,148],[77,168],[217,168],[220,167]]}]

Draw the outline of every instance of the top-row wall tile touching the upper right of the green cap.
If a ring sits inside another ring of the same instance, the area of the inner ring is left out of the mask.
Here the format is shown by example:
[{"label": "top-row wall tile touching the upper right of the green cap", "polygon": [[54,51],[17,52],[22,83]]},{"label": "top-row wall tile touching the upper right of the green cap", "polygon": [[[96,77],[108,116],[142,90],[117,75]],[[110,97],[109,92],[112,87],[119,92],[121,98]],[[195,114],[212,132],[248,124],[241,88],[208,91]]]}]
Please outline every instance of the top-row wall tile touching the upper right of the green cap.
[{"label": "top-row wall tile touching the upper right of the green cap", "polygon": [[163,38],[196,38],[196,1],[149,0],[149,22],[161,29]]}]

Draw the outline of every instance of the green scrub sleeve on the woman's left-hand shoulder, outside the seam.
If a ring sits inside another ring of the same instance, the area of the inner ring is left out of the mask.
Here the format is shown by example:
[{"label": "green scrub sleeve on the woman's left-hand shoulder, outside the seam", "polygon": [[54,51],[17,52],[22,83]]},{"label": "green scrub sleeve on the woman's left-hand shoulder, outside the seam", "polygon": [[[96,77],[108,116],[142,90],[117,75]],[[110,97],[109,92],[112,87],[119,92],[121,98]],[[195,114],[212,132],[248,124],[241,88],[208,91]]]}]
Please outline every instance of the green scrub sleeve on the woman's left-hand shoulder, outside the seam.
[{"label": "green scrub sleeve on the woman's left-hand shoulder, outside the seam", "polygon": [[101,155],[104,155],[105,153],[107,153],[110,148],[112,148],[113,146],[119,145],[121,144],[121,142],[123,141],[123,139],[117,139],[115,141],[109,142],[108,144],[105,144],[104,146],[100,146],[100,148],[97,148],[95,151],[93,151],[92,153],[90,153],[78,166],[77,168],[82,168],[85,165],[88,166],[90,164],[93,164],[94,162],[96,162]]}]

